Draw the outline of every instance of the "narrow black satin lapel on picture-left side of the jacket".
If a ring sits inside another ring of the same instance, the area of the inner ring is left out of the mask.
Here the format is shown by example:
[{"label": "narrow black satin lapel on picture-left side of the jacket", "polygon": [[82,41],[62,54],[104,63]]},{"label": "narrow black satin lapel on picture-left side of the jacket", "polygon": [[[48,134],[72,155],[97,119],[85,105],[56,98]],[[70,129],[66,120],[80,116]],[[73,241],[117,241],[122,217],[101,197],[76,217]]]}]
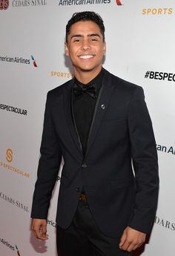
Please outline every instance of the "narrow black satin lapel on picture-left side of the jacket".
[{"label": "narrow black satin lapel on picture-left side of the jacket", "polygon": [[79,137],[76,133],[76,128],[73,124],[73,116],[71,113],[71,88],[73,86],[73,80],[70,80],[70,84],[67,85],[67,88],[64,90],[64,109],[65,109],[65,116],[67,119],[67,125],[70,130],[70,135],[73,139],[74,144],[76,145],[76,148],[79,150],[79,152],[82,154],[82,149],[80,147],[79,143]]}]

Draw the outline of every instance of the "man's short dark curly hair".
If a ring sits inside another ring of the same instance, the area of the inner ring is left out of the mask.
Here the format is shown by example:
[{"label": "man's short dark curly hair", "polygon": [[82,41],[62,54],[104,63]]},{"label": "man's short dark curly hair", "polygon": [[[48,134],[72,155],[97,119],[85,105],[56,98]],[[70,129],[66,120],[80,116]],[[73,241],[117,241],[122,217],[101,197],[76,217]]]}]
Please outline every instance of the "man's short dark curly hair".
[{"label": "man's short dark curly hair", "polygon": [[99,16],[98,13],[90,12],[90,11],[85,11],[85,12],[79,12],[79,13],[73,13],[72,18],[67,22],[66,25],[66,42],[67,42],[67,37],[70,33],[70,27],[76,23],[76,22],[94,22],[99,26],[99,29],[102,33],[103,36],[103,42],[105,42],[105,26],[103,23],[103,20],[101,16]]}]

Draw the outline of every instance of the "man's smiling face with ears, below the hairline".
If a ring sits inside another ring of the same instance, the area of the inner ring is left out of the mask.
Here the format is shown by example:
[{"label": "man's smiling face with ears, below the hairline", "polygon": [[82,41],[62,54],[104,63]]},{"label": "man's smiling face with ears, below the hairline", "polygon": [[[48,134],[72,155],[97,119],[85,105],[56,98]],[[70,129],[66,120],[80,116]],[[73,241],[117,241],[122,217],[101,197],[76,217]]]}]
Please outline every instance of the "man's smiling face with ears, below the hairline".
[{"label": "man's smiling face with ears, below the hairline", "polygon": [[94,22],[76,22],[70,27],[65,43],[74,71],[100,71],[106,45],[99,26]]}]

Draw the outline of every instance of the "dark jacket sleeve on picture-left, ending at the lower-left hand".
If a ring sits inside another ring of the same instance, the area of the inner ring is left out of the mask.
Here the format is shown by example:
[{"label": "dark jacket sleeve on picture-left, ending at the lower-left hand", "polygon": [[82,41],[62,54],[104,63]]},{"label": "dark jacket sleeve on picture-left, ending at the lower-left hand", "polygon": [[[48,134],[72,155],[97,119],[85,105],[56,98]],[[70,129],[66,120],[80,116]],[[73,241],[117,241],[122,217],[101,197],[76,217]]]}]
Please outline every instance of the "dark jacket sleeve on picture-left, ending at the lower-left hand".
[{"label": "dark jacket sleeve on picture-left, ending at the lower-left hand", "polygon": [[31,217],[47,219],[50,198],[62,161],[62,151],[50,113],[50,93],[47,93],[40,152],[41,157],[39,159],[36,186],[33,194]]}]

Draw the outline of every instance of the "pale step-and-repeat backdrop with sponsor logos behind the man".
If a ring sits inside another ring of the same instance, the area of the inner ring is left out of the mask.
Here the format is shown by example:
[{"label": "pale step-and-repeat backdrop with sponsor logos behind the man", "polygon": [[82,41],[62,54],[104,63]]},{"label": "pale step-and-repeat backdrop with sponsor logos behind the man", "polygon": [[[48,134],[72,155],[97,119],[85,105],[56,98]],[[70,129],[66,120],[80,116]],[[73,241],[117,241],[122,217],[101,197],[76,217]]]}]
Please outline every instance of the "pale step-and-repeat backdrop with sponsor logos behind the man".
[{"label": "pale step-and-repeat backdrop with sponsor logos behind the man", "polygon": [[[145,91],[159,155],[159,204],[151,236],[133,255],[172,256],[175,241],[175,1],[0,0],[0,255],[55,255],[58,176],[49,240],[30,232],[47,91],[73,77],[65,25],[73,13],[104,19],[104,67]],[[62,168],[62,166],[61,166]]]}]

